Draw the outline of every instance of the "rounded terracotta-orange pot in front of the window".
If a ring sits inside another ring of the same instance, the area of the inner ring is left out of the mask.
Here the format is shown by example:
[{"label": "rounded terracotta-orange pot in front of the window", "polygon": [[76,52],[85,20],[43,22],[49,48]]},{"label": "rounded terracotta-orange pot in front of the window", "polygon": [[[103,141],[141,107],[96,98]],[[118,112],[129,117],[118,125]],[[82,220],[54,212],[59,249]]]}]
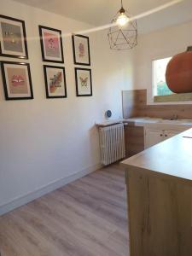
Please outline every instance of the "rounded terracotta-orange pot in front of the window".
[{"label": "rounded terracotta-orange pot in front of the window", "polygon": [[192,51],[172,57],[166,67],[166,84],[172,92],[192,92]]}]

